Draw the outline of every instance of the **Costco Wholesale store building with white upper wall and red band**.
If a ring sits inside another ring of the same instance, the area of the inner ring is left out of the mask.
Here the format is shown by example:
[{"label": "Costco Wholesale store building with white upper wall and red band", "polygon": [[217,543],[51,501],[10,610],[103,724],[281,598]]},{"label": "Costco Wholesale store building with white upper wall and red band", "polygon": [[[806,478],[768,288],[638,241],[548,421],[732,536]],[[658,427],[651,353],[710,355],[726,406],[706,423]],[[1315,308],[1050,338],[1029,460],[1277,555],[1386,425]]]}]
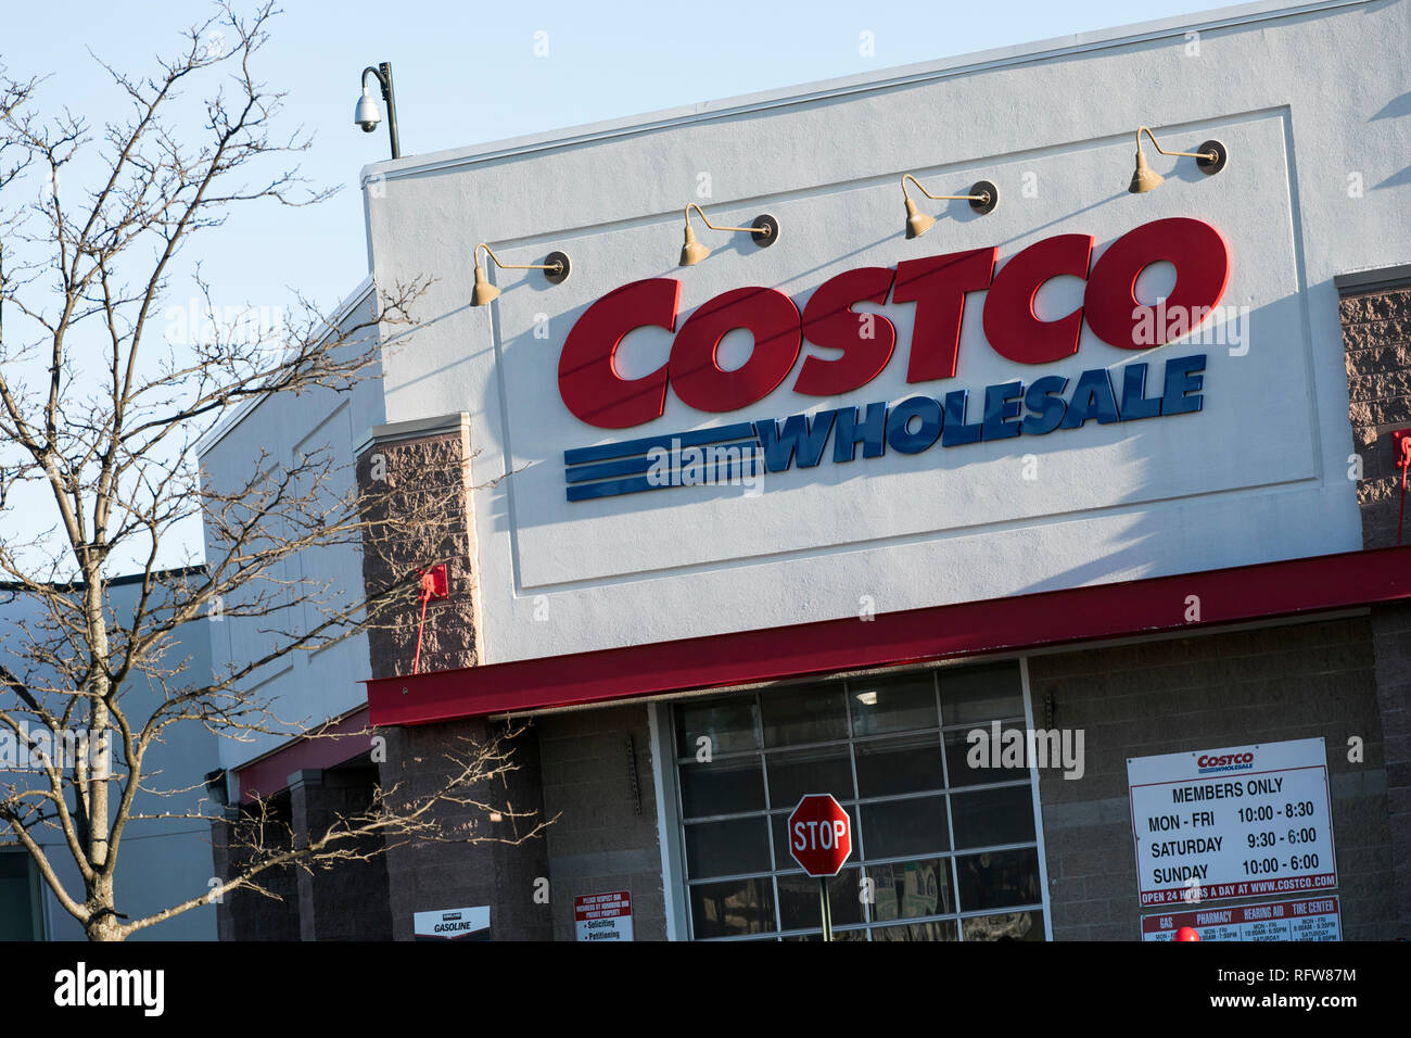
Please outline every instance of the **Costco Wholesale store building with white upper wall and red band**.
[{"label": "Costco Wholesale store building with white upper wall and red band", "polygon": [[811,792],[838,938],[1411,935],[1408,47],[1252,4],[370,167],[349,312],[420,325],[205,462],[460,480],[337,561],[444,595],[270,678],[385,754],[226,764],[299,832],[528,722],[490,792],[553,821],[223,936],[816,938]]}]

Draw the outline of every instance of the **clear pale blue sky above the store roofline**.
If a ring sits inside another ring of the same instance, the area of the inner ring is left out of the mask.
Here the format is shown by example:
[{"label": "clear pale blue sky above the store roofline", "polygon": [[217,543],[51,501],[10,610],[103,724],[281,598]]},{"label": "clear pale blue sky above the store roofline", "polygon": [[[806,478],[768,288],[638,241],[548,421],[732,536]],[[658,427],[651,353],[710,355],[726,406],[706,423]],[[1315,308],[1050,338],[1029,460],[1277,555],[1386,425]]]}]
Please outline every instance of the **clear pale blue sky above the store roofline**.
[{"label": "clear pale blue sky above the store roofline", "polygon": [[[313,147],[299,157],[303,175],[341,191],[308,209],[237,210],[185,260],[188,267],[202,260],[222,306],[278,308],[298,288],[330,308],[361,281],[367,251],[357,178],[365,164],[388,157],[388,145],[382,127],[364,134],[353,124],[353,107],[358,73],[381,61],[392,62],[402,153],[413,155],[1212,6],[286,0],[257,75],[288,93],[284,126],[313,133]],[[130,73],[150,72],[155,55],[179,48],[178,31],[210,10],[198,0],[8,3],[0,65],[13,78],[49,76],[40,95],[45,113],[68,106],[100,127],[121,113],[123,99],[93,55]],[[862,32],[873,34],[871,55],[861,52]],[[536,42],[540,49],[547,42],[546,56],[536,56]],[[189,288],[181,281],[174,288],[171,305],[185,305]],[[199,554],[198,531],[188,544]]]}]

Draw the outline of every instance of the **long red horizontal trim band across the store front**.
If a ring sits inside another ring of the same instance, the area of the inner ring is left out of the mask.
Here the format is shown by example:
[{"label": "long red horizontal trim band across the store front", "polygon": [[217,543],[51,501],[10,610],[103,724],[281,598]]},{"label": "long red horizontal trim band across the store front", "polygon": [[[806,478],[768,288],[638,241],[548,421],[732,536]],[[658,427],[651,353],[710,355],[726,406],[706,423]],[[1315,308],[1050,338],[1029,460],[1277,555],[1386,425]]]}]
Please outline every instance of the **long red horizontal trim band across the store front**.
[{"label": "long red horizontal trim band across the store front", "polygon": [[1381,548],[364,684],[373,724],[425,724],[1407,599],[1411,547]]}]

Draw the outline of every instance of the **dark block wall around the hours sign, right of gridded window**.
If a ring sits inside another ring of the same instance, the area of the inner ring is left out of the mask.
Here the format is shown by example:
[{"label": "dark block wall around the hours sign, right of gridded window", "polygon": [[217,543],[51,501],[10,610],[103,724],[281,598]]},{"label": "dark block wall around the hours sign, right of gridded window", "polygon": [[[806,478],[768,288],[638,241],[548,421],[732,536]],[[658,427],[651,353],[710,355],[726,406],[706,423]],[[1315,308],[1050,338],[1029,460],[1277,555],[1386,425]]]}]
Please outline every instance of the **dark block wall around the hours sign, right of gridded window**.
[{"label": "dark block wall around the hours sign, right of gridded window", "polygon": [[[1034,723],[1053,696],[1053,724],[1085,730],[1081,780],[1040,772],[1054,939],[1139,939],[1127,757],[1316,736],[1343,939],[1395,936],[1377,665],[1367,617],[1030,657]],[[1350,736],[1363,739],[1360,764]]]}]

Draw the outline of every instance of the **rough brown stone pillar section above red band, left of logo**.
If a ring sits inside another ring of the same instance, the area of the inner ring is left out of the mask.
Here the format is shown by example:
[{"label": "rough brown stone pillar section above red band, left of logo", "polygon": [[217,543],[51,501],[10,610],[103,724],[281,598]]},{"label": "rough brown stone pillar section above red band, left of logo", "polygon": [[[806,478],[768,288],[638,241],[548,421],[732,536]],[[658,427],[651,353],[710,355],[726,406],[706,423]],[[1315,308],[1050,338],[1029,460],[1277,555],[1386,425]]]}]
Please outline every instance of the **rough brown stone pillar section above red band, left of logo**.
[{"label": "rough brown stone pillar section above red band, left of logo", "polygon": [[426,607],[419,669],[473,667],[476,652],[476,572],[470,503],[470,431],[457,421],[450,431],[405,435],[385,426],[357,460],[358,489],[374,523],[363,544],[363,579],[368,592],[405,590],[387,616],[368,627],[373,676],[411,674],[416,654],[420,603],[419,573],[444,562],[444,599]]}]

